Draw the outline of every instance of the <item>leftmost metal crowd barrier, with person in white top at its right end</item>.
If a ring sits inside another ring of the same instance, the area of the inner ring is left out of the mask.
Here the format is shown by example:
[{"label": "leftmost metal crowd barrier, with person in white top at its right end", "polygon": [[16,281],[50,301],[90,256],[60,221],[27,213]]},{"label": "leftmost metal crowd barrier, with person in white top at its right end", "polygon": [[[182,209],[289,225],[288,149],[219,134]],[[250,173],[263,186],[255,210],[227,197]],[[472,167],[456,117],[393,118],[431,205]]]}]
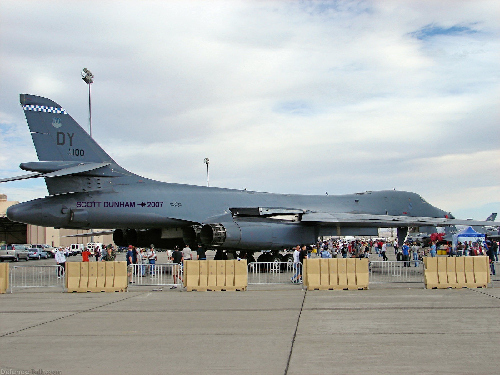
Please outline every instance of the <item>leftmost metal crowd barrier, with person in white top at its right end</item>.
[{"label": "leftmost metal crowd barrier, with person in white top at its right end", "polygon": [[15,287],[60,287],[64,292],[62,265],[14,265],[10,268],[10,293]]}]

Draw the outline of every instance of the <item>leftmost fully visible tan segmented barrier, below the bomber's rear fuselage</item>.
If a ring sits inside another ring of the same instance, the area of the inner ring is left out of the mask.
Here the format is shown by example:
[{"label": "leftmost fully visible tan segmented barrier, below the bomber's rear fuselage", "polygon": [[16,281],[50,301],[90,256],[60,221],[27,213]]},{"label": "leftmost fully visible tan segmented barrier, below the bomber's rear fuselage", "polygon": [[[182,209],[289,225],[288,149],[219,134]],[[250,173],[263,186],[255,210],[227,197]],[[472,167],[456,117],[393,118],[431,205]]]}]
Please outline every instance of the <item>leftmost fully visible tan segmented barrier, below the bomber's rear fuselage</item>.
[{"label": "leftmost fully visible tan segmented barrier, below the bomber's rear fuselage", "polygon": [[68,292],[126,291],[125,261],[70,261],[66,262]]}]

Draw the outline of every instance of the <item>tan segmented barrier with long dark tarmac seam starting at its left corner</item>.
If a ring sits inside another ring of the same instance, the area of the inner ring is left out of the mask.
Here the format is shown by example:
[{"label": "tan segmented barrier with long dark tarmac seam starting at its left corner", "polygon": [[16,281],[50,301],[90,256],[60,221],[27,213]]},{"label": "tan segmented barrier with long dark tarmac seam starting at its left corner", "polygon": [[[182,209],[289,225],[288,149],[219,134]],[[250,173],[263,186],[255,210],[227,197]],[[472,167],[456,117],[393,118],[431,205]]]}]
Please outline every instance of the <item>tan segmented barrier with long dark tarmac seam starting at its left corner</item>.
[{"label": "tan segmented barrier with long dark tarmac seam starting at its left corner", "polygon": [[303,280],[307,290],[368,289],[368,259],[304,259]]}]

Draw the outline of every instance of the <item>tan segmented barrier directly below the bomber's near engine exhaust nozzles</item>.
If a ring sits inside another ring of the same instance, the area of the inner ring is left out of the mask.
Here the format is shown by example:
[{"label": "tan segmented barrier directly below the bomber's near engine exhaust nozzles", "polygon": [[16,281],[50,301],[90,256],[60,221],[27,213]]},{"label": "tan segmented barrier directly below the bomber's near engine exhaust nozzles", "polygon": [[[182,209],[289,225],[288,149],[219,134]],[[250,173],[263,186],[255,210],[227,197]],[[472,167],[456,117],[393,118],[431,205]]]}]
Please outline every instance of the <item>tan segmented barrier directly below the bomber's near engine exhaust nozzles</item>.
[{"label": "tan segmented barrier directly below the bomber's near engine exhaust nozzles", "polygon": [[184,286],[187,291],[247,290],[246,259],[186,260]]}]

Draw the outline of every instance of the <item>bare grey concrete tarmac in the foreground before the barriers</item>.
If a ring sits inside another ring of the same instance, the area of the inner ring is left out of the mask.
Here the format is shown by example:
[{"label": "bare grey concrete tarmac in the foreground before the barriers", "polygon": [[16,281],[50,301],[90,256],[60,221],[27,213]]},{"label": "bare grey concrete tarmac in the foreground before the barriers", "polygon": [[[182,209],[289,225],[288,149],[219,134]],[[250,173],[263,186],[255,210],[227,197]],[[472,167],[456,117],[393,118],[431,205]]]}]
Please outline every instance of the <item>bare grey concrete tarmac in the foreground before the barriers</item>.
[{"label": "bare grey concrete tarmac in the foreground before the barriers", "polygon": [[499,307],[500,288],[419,284],[15,289],[0,295],[0,372],[492,374]]}]

